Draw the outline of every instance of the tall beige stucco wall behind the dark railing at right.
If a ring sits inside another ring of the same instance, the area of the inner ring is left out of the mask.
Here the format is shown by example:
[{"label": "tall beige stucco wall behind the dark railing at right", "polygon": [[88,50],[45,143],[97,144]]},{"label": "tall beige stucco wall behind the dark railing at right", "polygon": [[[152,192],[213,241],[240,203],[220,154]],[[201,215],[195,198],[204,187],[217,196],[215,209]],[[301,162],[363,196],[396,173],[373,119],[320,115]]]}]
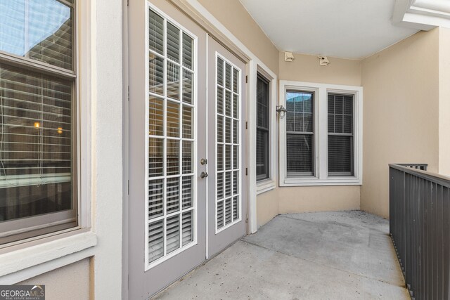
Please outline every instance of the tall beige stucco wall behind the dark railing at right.
[{"label": "tall beige stucco wall behind the dark railing at right", "polygon": [[363,210],[389,216],[387,164],[438,169],[438,38],[439,30],[418,32],[362,62]]}]

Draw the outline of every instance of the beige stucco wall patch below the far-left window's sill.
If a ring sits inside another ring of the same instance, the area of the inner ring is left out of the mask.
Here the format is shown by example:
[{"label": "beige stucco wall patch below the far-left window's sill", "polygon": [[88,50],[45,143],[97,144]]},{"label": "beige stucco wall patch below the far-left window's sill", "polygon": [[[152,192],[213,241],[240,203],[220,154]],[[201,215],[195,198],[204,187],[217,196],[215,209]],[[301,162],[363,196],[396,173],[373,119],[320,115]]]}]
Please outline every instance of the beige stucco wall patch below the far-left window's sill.
[{"label": "beige stucco wall patch below the far-left window's sill", "polygon": [[89,259],[83,259],[18,284],[45,285],[46,300],[87,300],[89,278]]}]

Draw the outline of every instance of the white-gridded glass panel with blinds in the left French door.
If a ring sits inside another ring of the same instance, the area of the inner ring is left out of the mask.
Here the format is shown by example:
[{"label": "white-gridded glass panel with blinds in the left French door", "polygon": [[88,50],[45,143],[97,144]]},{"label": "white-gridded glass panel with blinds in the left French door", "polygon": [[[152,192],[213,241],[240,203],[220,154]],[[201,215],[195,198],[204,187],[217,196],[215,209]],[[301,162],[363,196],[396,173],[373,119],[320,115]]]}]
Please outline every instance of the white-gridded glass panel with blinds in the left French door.
[{"label": "white-gridded glass panel with blinds in the left French door", "polygon": [[146,269],[195,244],[195,40],[148,11]]}]

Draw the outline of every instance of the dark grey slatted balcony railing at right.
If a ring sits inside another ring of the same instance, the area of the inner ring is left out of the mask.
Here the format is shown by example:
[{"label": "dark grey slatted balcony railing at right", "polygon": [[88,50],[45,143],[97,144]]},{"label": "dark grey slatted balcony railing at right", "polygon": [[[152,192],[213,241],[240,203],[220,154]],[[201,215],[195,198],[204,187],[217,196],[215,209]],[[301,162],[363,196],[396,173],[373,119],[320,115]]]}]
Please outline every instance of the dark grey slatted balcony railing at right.
[{"label": "dark grey slatted balcony railing at right", "polygon": [[389,166],[390,235],[411,298],[450,299],[450,178]]}]

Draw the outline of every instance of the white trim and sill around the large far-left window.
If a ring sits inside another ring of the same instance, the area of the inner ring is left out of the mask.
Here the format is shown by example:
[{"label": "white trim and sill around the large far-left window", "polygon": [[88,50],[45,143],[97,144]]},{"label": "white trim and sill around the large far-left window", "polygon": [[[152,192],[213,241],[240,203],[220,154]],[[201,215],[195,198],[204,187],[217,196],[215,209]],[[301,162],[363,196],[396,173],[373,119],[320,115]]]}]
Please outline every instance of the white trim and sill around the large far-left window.
[{"label": "white trim and sill around the large far-left window", "polygon": [[[93,4],[83,5],[82,1],[77,1],[75,5],[78,226],[1,245],[0,284],[11,285],[94,256],[97,236],[91,230],[91,52],[92,41],[95,41],[91,34],[93,7]],[[82,56],[79,55],[80,52],[83,53]]]}]

